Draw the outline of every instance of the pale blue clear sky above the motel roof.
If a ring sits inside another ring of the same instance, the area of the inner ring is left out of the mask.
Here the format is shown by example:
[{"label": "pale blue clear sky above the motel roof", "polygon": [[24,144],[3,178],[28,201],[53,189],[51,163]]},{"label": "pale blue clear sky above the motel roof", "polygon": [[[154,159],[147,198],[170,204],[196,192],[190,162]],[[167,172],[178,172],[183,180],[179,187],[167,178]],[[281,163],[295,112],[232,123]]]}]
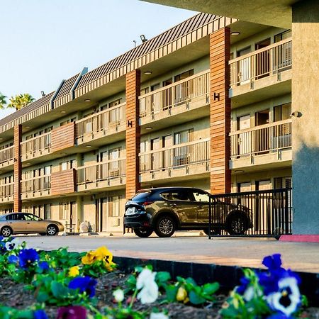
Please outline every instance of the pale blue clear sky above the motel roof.
[{"label": "pale blue clear sky above the motel roof", "polygon": [[0,92],[35,99],[196,14],[138,0],[0,0],[0,12]]}]

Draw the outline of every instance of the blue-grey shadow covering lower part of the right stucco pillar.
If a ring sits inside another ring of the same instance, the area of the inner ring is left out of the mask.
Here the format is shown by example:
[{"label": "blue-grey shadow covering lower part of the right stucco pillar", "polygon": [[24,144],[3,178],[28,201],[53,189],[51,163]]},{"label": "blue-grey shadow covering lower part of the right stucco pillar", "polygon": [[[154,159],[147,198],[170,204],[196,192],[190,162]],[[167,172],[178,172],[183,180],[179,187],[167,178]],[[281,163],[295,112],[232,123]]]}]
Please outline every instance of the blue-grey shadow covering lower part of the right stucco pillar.
[{"label": "blue-grey shadow covering lower part of the right stucco pillar", "polygon": [[293,152],[293,234],[319,234],[319,147]]}]

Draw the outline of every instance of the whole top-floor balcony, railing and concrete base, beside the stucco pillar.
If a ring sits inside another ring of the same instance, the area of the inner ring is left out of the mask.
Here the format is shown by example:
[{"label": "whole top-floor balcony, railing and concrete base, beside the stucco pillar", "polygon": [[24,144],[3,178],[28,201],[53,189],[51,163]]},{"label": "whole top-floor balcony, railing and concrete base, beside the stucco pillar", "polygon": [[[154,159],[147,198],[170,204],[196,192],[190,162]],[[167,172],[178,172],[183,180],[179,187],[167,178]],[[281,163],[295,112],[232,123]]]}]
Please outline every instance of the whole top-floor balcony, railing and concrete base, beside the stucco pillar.
[{"label": "whole top-floor balcony, railing and concrete base, beside the stucco pillar", "polygon": [[[230,97],[233,98],[233,106],[289,93],[291,53],[292,41],[289,38],[230,60]],[[240,96],[250,92],[254,94],[240,99]]]}]

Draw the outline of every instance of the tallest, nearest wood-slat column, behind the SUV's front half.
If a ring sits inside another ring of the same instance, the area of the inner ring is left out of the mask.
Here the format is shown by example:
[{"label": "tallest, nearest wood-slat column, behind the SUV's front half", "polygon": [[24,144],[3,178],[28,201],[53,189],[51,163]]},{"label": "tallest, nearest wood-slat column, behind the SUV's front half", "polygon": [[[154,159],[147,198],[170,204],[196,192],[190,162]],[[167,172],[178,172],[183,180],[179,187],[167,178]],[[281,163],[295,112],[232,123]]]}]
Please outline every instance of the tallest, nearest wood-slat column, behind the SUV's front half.
[{"label": "tallest, nearest wood-slat column, behind the SUV's front half", "polygon": [[230,159],[230,29],[210,35],[211,193],[231,191]]}]

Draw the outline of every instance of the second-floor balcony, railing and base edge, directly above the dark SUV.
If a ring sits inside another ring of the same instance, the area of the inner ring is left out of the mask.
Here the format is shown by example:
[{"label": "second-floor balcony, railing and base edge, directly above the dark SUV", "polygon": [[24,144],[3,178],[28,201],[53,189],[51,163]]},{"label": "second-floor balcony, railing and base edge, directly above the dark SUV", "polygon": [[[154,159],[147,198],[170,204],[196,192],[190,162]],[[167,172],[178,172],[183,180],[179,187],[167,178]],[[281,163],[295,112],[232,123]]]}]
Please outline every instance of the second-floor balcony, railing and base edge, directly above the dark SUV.
[{"label": "second-floor balcony, railing and base edge, directly above the dark SUV", "polygon": [[210,141],[187,142],[140,154],[141,181],[209,172]]}]

